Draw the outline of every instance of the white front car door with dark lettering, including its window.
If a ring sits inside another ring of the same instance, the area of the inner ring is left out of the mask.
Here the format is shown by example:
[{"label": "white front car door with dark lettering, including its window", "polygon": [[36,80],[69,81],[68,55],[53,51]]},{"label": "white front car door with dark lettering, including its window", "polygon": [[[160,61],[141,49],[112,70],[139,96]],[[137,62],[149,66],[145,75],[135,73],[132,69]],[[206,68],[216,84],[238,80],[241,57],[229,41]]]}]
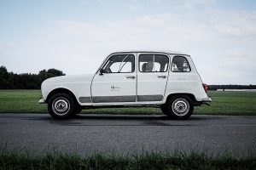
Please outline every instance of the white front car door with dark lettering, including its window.
[{"label": "white front car door with dark lettering, including its window", "polygon": [[91,84],[92,105],[136,102],[136,54],[113,54],[102,65]]}]

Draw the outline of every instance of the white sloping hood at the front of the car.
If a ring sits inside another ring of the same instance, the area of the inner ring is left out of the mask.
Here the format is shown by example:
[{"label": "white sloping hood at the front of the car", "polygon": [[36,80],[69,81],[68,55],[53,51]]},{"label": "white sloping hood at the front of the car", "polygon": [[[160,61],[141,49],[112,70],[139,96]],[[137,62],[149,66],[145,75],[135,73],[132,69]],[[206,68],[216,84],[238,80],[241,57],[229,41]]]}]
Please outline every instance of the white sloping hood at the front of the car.
[{"label": "white sloping hood at the front of the car", "polygon": [[46,84],[60,84],[60,83],[77,83],[77,82],[91,82],[93,74],[84,74],[84,75],[71,75],[71,76],[61,76],[61,77],[52,77],[46,79],[42,85]]}]

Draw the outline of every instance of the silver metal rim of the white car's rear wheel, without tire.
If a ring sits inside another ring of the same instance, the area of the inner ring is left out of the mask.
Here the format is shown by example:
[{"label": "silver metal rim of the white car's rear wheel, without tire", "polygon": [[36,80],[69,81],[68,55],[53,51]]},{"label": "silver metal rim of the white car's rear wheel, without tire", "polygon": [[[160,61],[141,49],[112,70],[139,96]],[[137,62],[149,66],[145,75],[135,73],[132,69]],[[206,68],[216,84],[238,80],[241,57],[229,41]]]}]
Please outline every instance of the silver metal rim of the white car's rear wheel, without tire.
[{"label": "silver metal rim of the white car's rear wheel, without tire", "polygon": [[189,102],[187,99],[178,98],[172,102],[172,111],[177,116],[185,116],[189,112]]}]

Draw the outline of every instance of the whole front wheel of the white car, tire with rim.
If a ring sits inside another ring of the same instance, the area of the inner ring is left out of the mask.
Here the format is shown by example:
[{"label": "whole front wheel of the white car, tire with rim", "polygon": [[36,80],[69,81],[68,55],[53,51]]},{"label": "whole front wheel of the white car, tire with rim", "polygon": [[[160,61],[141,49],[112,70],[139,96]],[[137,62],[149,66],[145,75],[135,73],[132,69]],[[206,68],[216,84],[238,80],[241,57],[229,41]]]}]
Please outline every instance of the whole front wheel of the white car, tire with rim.
[{"label": "whole front wheel of the white car, tire with rim", "polygon": [[49,115],[57,119],[66,119],[76,114],[74,99],[68,94],[55,94],[48,102]]}]

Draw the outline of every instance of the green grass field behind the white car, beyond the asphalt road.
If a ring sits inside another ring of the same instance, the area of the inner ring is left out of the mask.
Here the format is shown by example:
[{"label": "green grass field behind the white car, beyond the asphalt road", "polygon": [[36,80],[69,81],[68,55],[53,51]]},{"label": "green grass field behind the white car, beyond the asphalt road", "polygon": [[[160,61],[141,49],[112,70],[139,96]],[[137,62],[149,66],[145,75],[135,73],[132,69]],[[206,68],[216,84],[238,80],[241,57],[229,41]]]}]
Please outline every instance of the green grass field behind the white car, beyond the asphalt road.
[{"label": "green grass field behind the white car, beyond the asphalt road", "polygon": [[[215,92],[210,106],[195,107],[195,114],[208,115],[256,115],[256,93],[254,92]],[[39,105],[40,90],[0,90],[0,113],[47,113],[46,105]],[[84,110],[87,114],[144,114],[160,115],[158,108],[109,108]]]}]

